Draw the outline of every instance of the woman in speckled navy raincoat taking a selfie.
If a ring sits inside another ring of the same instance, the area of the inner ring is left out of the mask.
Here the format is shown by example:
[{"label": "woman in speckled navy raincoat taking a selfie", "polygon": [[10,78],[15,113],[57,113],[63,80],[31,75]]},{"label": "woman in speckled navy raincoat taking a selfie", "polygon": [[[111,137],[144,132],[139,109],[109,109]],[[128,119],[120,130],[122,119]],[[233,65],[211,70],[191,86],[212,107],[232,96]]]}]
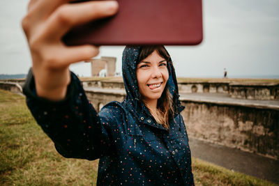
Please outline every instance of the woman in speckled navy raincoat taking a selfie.
[{"label": "woman in speckled navy raincoat taking a selfie", "polygon": [[100,158],[97,185],[194,185],[183,106],[165,47],[126,47],[126,98],[99,113],[68,70],[98,49],[66,47],[63,34],[116,10],[115,1],[31,1],[22,22],[33,61],[24,86],[27,105],[61,155]]}]

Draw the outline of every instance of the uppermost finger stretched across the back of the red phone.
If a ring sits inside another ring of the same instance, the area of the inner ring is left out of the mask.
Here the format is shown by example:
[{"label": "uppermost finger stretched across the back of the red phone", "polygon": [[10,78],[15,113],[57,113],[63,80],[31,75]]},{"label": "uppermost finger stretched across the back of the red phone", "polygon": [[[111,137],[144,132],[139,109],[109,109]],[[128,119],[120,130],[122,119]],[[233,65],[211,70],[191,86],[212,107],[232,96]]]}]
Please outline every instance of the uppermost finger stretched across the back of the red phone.
[{"label": "uppermost finger stretched across the back of the red phone", "polygon": [[90,1],[63,5],[47,20],[45,34],[50,36],[49,39],[60,39],[73,26],[112,16],[117,10],[116,1]]}]

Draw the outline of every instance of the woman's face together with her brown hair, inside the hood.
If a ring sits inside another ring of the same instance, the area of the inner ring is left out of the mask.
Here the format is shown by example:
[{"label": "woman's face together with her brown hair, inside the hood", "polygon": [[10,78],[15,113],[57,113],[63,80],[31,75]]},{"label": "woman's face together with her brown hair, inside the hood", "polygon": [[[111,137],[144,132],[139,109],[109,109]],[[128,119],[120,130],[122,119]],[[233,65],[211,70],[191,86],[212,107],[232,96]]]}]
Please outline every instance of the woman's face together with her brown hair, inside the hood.
[{"label": "woman's face together with her brown hair, inside the hood", "polygon": [[174,113],[166,86],[167,63],[172,63],[169,54],[163,46],[142,47],[138,61],[136,72],[142,101],[157,123],[169,128],[169,116]]}]

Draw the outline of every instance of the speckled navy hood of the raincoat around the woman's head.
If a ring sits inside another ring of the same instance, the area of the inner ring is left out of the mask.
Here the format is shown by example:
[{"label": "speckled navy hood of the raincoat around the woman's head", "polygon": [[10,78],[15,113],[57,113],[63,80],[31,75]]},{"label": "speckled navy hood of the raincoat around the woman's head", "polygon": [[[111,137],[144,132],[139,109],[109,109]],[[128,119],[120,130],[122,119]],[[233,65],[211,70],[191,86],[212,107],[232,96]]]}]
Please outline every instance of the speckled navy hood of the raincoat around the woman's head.
[{"label": "speckled navy hood of the raincoat around the woman's head", "polygon": [[[141,51],[140,46],[126,46],[123,50],[122,55],[122,74],[123,82],[126,89],[126,98],[124,104],[130,111],[133,112],[133,115],[138,118],[142,115],[151,116],[149,109],[147,109],[144,103],[140,100],[140,91],[137,84],[137,63],[139,54]],[[172,63],[167,63],[167,69],[169,71],[169,79],[167,80],[166,86],[169,88],[169,93],[171,93],[173,102],[175,105],[175,114],[179,114],[184,107],[179,101],[179,90],[176,82],[176,75],[174,72],[174,66]]]}]

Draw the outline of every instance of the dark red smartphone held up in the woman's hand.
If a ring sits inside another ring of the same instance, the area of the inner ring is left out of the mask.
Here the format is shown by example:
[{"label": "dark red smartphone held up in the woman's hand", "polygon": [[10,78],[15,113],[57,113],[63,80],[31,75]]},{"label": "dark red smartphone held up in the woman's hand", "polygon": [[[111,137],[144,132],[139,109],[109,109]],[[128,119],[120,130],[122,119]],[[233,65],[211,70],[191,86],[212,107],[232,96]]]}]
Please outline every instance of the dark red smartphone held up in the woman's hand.
[{"label": "dark red smartphone held up in the woman's hand", "polygon": [[197,45],[202,42],[202,0],[117,1],[116,15],[74,27],[63,37],[63,42],[66,45]]}]

